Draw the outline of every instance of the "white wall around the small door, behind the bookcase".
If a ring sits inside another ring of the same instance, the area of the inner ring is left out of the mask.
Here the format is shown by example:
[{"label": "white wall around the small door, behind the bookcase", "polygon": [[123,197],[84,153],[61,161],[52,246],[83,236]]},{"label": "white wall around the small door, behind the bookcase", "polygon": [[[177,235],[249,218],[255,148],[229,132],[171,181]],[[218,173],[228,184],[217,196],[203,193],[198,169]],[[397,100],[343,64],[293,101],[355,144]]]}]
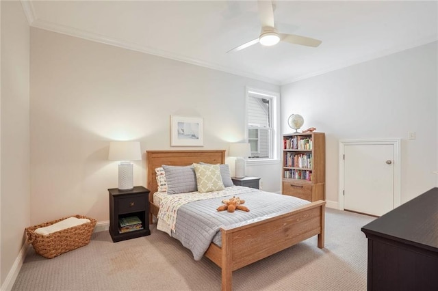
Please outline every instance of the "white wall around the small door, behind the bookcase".
[{"label": "white wall around the small door, behind the bookcase", "polygon": [[[339,139],[402,139],[402,203],[437,186],[437,42],[281,87],[283,133],[326,133],[326,199],[338,201]],[[407,140],[408,132],[417,139]]]}]

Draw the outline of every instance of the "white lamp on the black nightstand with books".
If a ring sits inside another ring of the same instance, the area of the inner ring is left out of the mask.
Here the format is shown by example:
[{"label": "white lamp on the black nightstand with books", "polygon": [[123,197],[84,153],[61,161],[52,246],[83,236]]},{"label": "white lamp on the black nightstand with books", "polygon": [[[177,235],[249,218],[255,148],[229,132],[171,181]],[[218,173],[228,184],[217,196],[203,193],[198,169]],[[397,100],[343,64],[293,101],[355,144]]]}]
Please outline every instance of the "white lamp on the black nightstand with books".
[{"label": "white lamp on the black nightstand with books", "polygon": [[118,190],[133,189],[133,165],[131,161],[140,161],[142,152],[140,141],[111,141],[108,160],[120,161],[118,165]]}]

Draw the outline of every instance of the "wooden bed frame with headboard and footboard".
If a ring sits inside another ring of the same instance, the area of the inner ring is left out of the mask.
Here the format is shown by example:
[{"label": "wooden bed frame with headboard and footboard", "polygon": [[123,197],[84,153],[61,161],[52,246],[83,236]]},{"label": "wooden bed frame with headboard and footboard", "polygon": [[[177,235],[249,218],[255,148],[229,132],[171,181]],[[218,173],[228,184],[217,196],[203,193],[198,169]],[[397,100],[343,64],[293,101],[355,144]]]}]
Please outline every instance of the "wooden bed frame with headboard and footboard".
[{"label": "wooden bed frame with headboard and footboard", "polygon": [[[225,162],[225,150],[157,150],[146,152],[147,187],[150,215],[158,214],[153,204],[157,191],[155,168],[162,165],[192,165],[192,163]],[[221,228],[222,247],[211,243],[205,257],[222,268],[222,290],[231,290],[233,271],[248,266],[302,240],[318,235],[318,247],[324,247],[324,201],[312,202],[277,216],[239,223]]]}]

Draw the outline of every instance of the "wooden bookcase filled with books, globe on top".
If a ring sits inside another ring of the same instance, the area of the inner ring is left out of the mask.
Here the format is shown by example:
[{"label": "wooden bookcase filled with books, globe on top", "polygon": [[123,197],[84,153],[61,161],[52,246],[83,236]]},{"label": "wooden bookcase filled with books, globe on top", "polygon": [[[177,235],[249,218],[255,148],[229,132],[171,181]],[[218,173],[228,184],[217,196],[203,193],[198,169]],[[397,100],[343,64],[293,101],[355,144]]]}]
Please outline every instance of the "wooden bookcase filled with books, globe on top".
[{"label": "wooden bookcase filled with books, globe on top", "polygon": [[285,134],[282,152],[282,193],[310,202],[325,200],[325,134]]}]

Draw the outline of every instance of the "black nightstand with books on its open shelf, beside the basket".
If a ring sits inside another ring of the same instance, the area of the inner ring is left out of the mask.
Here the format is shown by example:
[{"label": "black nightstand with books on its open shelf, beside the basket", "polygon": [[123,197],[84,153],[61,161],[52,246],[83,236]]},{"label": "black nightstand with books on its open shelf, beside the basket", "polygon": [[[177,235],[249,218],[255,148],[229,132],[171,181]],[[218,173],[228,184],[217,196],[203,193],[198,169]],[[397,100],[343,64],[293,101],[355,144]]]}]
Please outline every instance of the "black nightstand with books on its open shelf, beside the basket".
[{"label": "black nightstand with books on its open shelf, beside the basket", "polygon": [[[110,192],[110,235],[114,243],[140,236],[149,236],[149,190],[143,186],[135,186],[132,190],[120,191],[117,188]],[[118,220],[126,217],[138,217],[141,229],[120,232]]]}]

